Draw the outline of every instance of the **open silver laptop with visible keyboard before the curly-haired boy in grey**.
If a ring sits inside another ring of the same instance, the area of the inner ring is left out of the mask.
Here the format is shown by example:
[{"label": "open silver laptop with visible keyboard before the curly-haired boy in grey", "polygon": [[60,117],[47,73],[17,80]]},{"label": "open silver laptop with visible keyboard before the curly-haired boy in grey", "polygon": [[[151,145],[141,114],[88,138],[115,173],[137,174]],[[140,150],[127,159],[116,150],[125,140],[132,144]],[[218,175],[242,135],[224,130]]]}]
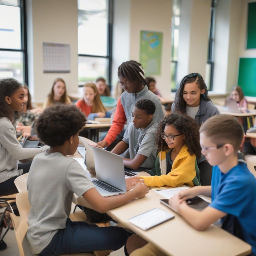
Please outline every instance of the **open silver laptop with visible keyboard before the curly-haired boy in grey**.
[{"label": "open silver laptop with visible keyboard before the curly-haired boy in grey", "polygon": [[96,179],[92,183],[102,196],[126,193],[122,156],[92,146]]}]

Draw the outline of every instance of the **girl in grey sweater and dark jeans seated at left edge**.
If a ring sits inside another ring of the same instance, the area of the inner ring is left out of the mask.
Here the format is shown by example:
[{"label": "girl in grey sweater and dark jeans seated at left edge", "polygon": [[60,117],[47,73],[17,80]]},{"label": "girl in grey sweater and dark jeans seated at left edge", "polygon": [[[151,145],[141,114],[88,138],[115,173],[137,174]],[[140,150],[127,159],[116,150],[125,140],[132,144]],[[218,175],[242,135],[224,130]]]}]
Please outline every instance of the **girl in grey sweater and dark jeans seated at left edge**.
[{"label": "girl in grey sweater and dark jeans seated at left edge", "polygon": [[31,162],[16,165],[16,160],[34,157],[49,147],[22,148],[16,138],[14,111],[22,111],[24,90],[14,78],[0,80],[0,195],[18,193],[14,180],[29,171]]}]

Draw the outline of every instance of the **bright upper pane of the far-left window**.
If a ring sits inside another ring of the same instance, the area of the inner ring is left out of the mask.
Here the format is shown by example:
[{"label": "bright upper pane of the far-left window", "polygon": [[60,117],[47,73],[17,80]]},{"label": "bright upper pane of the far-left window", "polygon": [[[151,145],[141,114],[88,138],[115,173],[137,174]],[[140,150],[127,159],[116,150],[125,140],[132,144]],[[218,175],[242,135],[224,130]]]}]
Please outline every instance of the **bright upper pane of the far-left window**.
[{"label": "bright upper pane of the far-left window", "polygon": [[19,7],[0,5],[0,48],[21,49]]}]

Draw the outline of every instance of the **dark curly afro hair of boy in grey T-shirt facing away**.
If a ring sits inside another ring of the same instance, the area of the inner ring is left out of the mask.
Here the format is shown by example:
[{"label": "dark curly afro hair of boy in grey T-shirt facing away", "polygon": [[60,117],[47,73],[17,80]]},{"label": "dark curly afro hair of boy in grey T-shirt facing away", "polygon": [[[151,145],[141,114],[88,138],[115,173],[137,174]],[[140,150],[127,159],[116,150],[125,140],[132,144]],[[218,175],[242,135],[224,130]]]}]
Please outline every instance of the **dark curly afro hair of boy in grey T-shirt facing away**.
[{"label": "dark curly afro hair of boy in grey T-shirt facing away", "polygon": [[44,110],[36,122],[37,135],[44,144],[61,146],[86,124],[86,117],[75,105],[56,103]]}]

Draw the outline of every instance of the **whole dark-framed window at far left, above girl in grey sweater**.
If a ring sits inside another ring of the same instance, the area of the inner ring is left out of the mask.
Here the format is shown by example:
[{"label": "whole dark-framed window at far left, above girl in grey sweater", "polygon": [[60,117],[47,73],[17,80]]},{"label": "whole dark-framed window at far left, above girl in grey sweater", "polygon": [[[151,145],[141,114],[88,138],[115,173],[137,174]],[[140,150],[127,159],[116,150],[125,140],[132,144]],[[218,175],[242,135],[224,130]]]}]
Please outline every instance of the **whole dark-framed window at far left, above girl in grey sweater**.
[{"label": "whole dark-framed window at far left, above girl in grey sweater", "polygon": [[27,79],[24,0],[0,0],[0,79]]}]

